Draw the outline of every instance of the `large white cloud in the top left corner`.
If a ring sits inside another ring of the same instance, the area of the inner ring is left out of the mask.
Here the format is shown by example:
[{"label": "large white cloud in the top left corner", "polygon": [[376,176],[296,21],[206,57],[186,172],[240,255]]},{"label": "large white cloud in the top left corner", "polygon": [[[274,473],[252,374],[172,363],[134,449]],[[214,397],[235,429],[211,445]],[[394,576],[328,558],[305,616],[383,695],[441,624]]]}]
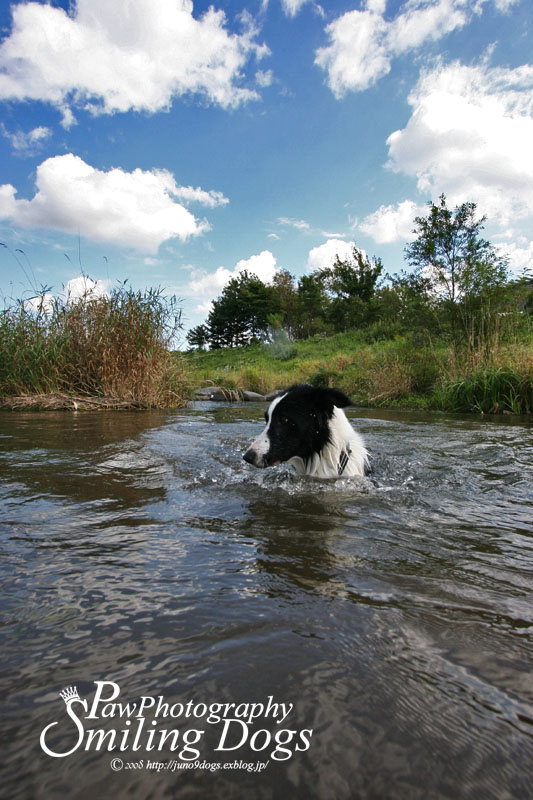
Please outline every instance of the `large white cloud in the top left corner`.
[{"label": "large white cloud in the top left corner", "polygon": [[252,26],[229,33],[223,11],[210,7],[196,19],[191,0],[77,0],[69,13],[28,2],[12,12],[0,98],[51,103],[66,127],[72,105],[154,113],[191,93],[237,106],[257,97],[239,86],[247,61],[269,52]]}]

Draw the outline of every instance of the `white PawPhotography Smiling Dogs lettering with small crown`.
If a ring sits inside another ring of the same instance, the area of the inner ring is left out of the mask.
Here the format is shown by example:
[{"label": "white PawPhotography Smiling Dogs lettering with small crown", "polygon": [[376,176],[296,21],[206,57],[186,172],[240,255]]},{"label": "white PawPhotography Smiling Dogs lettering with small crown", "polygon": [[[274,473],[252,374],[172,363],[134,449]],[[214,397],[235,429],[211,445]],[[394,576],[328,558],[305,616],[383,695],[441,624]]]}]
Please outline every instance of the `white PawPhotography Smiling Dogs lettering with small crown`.
[{"label": "white PawPhotography Smiling Dogs lettering with small crown", "polygon": [[142,751],[171,753],[179,762],[192,764],[211,751],[217,760],[218,754],[227,753],[248,761],[256,754],[288,761],[310,747],[313,731],[290,725],[293,704],[278,702],[273,695],[254,703],[207,704],[194,699],[171,703],[164,695],[125,702],[114,681],[94,684],[92,701],[82,698],[75,686],[59,692],[65,702],[62,719],[41,731],[46,755],[65,758],[80,750],[94,750],[126,753],[131,758]]}]

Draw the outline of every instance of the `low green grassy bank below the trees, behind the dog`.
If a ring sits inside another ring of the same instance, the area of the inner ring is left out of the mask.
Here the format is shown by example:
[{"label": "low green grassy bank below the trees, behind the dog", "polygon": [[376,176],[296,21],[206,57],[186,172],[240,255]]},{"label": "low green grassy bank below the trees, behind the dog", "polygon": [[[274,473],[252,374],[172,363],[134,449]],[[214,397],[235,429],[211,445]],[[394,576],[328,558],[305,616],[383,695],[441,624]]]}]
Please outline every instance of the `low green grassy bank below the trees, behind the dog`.
[{"label": "low green grassy bank below the trees, behind the dog", "polygon": [[533,342],[500,347],[490,361],[454,355],[442,343],[412,336],[367,343],[357,331],[286,348],[260,344],[186,356],[196,386],[262,394],[308,381],[336,386],[357,405],[477,413],[533,412]]}]

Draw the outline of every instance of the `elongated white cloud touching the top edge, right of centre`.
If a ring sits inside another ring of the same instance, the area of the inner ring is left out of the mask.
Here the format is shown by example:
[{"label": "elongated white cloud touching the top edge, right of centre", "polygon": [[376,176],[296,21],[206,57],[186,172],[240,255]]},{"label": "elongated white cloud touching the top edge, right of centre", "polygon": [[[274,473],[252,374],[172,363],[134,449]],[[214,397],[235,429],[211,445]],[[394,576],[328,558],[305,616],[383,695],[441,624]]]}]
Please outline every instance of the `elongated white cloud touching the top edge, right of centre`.
[{"label": "elongated white cloud touching the top edge, right of centre", "polygon": [[385,19],[385,0],[366,0],[361,11],[327,26],[329,45],[317,50],[315,63],[336,97],[363,91],[390,72],[393,58],[464,27],[488,2],[507,11],[515,0],[408,0],[392,20]]}]

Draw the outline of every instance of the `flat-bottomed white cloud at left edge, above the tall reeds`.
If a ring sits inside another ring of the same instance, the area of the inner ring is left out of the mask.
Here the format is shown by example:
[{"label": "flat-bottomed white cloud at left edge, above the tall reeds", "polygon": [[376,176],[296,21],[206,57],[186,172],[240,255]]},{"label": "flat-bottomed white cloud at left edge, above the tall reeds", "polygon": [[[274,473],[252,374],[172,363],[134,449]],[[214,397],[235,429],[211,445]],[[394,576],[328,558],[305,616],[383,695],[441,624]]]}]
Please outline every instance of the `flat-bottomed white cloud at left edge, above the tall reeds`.
[{"label": "flat-bottomed white cloud at left edge, above the tall reeds", "polygon": [[36,187],[35,196],[25,200],[15,196],[10,184],[0,186],[0,219],[23,228],[79,232],[149,255],[167,239],[185,240],[209,228],[176,202],[180,192],[204,203],[222,202],[218,193],[213,198],[211,193],[177,186],[166,170],[103,172],[72,153],[43,161],[37,167]]}]

